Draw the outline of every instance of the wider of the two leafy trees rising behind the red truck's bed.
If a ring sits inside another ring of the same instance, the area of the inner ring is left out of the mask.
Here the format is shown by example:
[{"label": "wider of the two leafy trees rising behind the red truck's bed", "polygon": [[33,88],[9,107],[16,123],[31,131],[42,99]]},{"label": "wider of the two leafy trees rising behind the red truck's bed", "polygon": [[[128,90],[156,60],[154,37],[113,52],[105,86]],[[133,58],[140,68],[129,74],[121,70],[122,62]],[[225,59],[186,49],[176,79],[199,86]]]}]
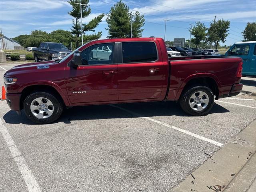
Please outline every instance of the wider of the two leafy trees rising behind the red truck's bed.
[{"label": "wider of the two leafy trees rising behind the red truck's bed", "polygon": [[230,21],[225,21],[223,19],[210,23],[210,28],[208,28],[208,41],[215,43],[215,48],[218,48],[218,44],[221,41],[224,43],[226,37],[228,36]]}]

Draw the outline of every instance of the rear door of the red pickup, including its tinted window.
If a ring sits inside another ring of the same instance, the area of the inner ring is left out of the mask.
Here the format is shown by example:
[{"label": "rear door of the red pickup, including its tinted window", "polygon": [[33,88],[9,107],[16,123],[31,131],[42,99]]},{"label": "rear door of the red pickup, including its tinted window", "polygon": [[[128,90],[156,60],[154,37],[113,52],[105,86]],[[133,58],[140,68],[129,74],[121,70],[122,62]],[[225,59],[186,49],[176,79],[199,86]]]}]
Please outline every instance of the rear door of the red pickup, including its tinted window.
[{"label": "rear door of the red pickup, including its tinted window", "polygon": [[164,66],[158,42],[122,42],[118,64],[119,100],[157,100],[162,92]]}]

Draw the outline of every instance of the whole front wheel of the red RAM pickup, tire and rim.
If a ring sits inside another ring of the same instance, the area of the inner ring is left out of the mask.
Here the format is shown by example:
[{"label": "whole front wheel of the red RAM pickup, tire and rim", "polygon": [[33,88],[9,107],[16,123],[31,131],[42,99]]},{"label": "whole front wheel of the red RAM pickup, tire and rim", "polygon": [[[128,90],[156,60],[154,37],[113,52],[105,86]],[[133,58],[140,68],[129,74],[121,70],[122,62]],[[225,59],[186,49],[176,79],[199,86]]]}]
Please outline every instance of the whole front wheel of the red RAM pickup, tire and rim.
[{"label": "whole front wheel of the red RAM pickup, tire and rim", "polygon": [[63,111],[63,104],[52,93],[33,92],[23,103],[28,119],[38,124],[47,124],[57,120]]}]

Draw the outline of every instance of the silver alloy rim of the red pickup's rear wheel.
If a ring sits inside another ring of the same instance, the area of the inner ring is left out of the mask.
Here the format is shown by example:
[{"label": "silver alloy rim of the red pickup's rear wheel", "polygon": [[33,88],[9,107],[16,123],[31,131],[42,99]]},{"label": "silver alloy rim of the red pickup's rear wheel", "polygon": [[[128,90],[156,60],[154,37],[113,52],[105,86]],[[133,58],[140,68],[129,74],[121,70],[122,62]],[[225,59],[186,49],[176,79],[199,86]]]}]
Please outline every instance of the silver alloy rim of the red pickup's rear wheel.
[{"label": "silver alloy rim of the red pickup's rear wheel", "polygon": [[189,106],[192,110],[202,111],[204,110],[209,103],[209,96],[206,92],[197,91],[192,94],[189,98]]}]

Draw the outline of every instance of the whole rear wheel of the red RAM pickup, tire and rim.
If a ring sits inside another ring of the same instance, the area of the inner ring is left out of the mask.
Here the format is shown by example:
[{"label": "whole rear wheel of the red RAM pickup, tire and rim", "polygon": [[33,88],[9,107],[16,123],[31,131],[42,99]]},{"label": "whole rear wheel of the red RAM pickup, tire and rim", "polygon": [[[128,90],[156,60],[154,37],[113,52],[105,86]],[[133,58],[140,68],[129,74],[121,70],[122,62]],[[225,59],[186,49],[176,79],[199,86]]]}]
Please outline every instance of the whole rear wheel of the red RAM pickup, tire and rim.
[{"label": "whole rear wheel of the red RAM pickup, tire and rim", "polygon": [[207,86],[190,86],[180,96],[180,106],[188,114],[202,116],[208,114],[214,105],[214,95]]}]

